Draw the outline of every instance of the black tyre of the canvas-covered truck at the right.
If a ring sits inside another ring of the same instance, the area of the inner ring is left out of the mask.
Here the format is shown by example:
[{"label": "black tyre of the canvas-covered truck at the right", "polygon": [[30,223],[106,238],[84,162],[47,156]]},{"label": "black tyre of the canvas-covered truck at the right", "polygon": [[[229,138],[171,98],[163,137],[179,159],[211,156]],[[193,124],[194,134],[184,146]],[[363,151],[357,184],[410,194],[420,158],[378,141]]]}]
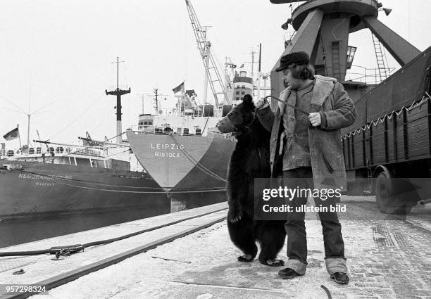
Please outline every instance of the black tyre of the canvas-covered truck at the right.
[{"label": "black tyre of the canvas-covered truck at the right", "polygon": [[377,175],[375,181],[375,199],[380,212],[392,215],[407,215],[411,206],[396,196],[395,186],[389,171],[384,170]]}]

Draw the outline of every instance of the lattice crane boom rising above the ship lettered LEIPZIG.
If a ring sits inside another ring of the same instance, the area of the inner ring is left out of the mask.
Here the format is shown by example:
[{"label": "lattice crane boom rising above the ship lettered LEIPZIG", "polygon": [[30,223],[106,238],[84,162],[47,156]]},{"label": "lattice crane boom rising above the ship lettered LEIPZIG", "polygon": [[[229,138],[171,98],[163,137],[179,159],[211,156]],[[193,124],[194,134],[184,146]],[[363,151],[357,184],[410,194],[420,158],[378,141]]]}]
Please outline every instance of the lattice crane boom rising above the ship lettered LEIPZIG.
[{"label": "lattice crane boom rising above the ship lettered LEIPZIG", "polygon": [[201,54],[205,68],[204,103],[206,102],[207,86],[209,83],[214,96],[215,108],[219,108],[220,101],[218,101],[218,98],[220,95],[224,97],[223,103],[230,104],[230,97],[227,95],[225,84],[223,84],[223,79],[220,76],[213,53],[211,52],[211,42],[206,39],[208,26],[201,26],[192,2],[190,0],[185,1],[190,21],[192,22],[194,37],[196,37],[199,53]]}]

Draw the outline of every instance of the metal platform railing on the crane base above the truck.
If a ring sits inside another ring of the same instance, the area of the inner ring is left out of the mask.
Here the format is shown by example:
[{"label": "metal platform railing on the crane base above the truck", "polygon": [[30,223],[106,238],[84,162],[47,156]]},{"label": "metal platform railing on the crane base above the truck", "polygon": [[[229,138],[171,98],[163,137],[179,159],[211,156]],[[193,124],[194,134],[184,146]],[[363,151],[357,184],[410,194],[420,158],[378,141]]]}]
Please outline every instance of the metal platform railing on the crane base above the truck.
[{"label": "metal platform railing on the crane base above the truck", "polygon": [[[361,65],[341,65],[342,67],[349,67],[349,70],[346,72],[345,81],[350,82],[361,82],[365,84],[380,84],[385,81],[387,77],[392,75],[395,68],[365,68]],[[331,70],[334,67],[329,68],[316,68],[316,74],[320,75],[329,75],[331,76]],[[339,68],[339,67],[337,67]],[[334,76],[334,74],[332,74]]]}]

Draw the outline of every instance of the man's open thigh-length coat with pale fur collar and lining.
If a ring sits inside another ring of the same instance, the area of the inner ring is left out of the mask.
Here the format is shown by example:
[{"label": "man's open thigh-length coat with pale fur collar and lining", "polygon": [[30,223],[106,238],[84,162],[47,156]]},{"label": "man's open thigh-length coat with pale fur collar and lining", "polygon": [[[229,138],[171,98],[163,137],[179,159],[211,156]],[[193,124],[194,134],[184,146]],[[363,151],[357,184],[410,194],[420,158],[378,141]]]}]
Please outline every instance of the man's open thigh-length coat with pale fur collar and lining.
[{"label": "man's open thigh-length coat with pale fur collar and lining", "polygon": [[[287,101],[291,89],[288,87],[280,94],[282,101]],[[270,165],[273,177],[277,177],[282,163],[279,158],[280,134],[282,133],[282,113],[280,106],[273,113],[270,107],[258,110],[258,118],[263,127],[271,132]],[[287,109],[293,109],[286,107]],[[356,120],[356,109],[353,101],[337,79],[316,75],[310,113],[320,113],[322,123],[319,127],[308,129],[311,167],[314,187],[346,189],[346,168],[342,152],[341,130],[349,127]],[[292,114],[292,113],[291,113]],[[294,115],[294,113],[293,113]],[[286,132],[287,138],[294,132]]]}]

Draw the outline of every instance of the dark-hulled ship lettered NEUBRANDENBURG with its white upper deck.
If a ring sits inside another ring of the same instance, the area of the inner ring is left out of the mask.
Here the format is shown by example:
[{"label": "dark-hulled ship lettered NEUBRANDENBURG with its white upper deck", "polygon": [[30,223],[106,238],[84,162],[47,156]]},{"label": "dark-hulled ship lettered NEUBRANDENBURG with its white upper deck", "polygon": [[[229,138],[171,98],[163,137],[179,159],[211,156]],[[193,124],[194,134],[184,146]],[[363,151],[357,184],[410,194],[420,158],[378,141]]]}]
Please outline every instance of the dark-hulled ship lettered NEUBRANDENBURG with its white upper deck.
[{"label": "dark-hulled ship lettered NEUBRANDENBURG with its white upper deck", "polygon": [[[125,151],[121,147],[121,151]],[[91,212],[170,212],[163,189],[135,165],[132,155],[103,146],[45,146],[1,151],[0,219]],[[133,168],[133,167],[132,167]]]}]

